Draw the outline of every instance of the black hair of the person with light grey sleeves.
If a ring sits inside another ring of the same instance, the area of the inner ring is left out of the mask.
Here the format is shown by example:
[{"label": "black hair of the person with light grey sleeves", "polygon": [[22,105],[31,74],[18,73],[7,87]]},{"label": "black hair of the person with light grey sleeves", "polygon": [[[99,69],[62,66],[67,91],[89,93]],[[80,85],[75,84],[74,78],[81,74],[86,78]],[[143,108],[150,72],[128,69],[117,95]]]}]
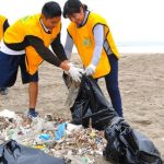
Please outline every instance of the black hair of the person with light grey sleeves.
[{"label": "black hair of the person with light grey sleeves", "polygon": [[80,0],[68,0],[63,5],[63,17],[67,19],[68,15],[79,13],[81,7],[84,11],[87,10],[87,5],[83,4]]}]

